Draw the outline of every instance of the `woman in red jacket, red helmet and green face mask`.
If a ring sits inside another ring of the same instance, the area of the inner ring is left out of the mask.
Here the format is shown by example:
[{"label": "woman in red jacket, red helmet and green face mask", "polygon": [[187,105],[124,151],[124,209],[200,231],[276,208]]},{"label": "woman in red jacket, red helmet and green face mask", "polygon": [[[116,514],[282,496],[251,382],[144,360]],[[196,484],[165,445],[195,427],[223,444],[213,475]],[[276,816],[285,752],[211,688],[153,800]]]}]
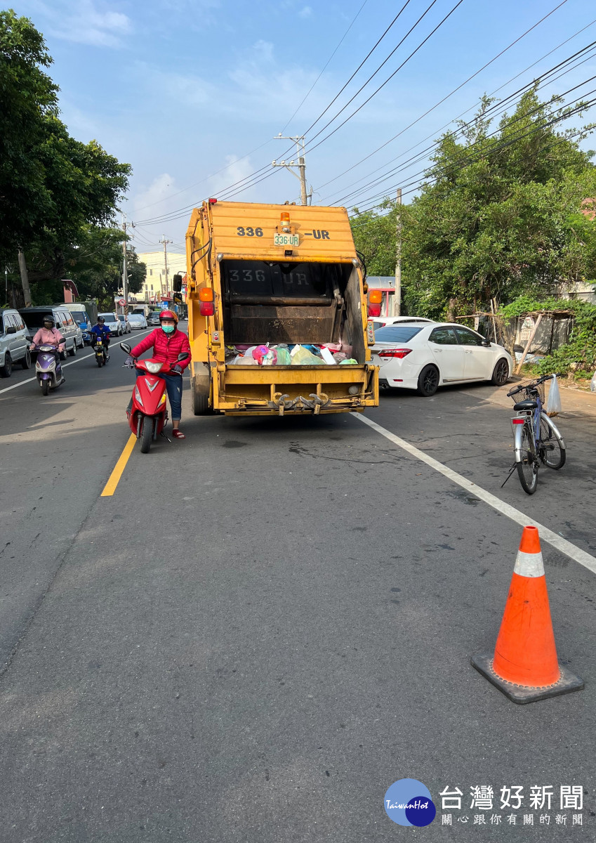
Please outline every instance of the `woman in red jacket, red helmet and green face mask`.
[{"label": "woman in red jacket, red helmet and green face mask", "polygon": [[[182,416],[182,373],[190,363],[189,338],[181,330],[178,330],[178,316],[173,310],[162,310],[159,314],[161,327],[152,330],[149,336],[135,346],[130,356],[126,358],[125,366],[133,366],[136,357],[141,357],[143,352],[153,348],[153,358],[168,362],[171,374],[161,374],[159,377],[166,382],[168,398],[172,409],[173,437],[185,439],[184,433],[179,430],[180,418]],[[178,354],[188,353],[186,360],[178,362]]]}]

